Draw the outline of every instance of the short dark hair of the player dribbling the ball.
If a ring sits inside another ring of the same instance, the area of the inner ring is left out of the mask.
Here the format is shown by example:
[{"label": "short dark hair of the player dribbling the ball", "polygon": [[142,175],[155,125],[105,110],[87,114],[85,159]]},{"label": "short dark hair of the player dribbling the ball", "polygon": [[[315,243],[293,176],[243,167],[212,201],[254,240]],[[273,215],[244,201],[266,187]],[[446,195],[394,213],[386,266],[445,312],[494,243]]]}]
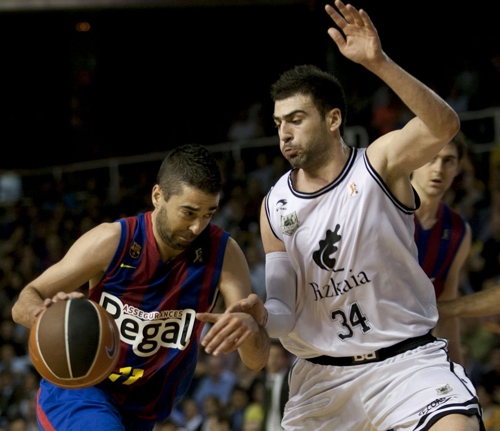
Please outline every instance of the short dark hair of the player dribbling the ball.
[{"label": "short dark hair of the player dribbling the ball", "polygon": [[179,194],[182,184],[208,194],[218,194],[222,188],[215,157],[205,147],[196,144],[181,145],[170,151],[161,163],[156,182],[165,200]]}]

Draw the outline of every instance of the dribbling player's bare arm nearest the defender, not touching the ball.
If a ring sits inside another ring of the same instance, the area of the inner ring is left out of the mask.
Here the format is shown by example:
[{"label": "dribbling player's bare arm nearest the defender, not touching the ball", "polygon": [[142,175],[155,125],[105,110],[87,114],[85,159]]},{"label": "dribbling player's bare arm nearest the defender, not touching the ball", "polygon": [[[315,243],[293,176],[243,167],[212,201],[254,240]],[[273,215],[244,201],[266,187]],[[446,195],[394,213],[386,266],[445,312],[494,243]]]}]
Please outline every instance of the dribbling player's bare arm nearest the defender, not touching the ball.
[{"label": "dribbling player's bare arm nearest the defender, not touching the ball", "polygon": [[[230,307],[251,293],[250,274],[245,256],[232,238],[227,241],[218,288],[226,307]],[[197,313],[196,318],[214,323],[201,341],[207,353],[219,355],[237,348],[246,366],[254,370],[264,367],[269,356],[269,337],[250,314]]]}]

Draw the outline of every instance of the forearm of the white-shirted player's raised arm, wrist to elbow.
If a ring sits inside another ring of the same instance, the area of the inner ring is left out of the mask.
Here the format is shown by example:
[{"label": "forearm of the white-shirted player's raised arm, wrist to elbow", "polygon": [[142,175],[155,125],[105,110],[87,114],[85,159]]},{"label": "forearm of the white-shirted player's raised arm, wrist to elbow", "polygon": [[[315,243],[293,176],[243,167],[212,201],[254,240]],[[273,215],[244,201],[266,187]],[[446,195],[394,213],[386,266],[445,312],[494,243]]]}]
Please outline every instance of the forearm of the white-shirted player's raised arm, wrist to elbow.
[{"label": "forearm of the white-shirted player's raised arm, wrist to elbow", "polygon": [[456,134],[460,121],[455,111],[385,54],[382,61],[365,64],[365,67],[392,88],[436,138],[448,142]]}]

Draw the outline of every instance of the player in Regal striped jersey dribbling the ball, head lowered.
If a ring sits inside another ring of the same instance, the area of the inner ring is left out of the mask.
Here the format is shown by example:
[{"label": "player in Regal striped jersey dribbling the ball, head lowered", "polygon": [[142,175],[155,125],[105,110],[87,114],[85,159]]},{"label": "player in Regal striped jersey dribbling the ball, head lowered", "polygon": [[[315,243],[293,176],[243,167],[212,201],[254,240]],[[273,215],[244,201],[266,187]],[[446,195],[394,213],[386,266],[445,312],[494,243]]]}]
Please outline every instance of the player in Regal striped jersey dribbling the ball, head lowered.
[{"label": "player in Regal striped jersey dribbling the ball, head lowered", "polygon": [[210,224],[220,187],[206,149],[172,150],[152,189],[152,212],[91,229],[21,291],[12,316],[29,327],[52,302],[82,296],[73,290],[89,281],[89,298],[113,316],[120,332],[118,363],[103,382],[63,389],[42,379],[41,429],[150,431],[187,390],[205,321],[229,329],[211,344],[214,355],[238,348],[250,368],[265,365],[269,340],[249,314],[209,312],[219,291],[226,305],[251,292],[241,249]]}]

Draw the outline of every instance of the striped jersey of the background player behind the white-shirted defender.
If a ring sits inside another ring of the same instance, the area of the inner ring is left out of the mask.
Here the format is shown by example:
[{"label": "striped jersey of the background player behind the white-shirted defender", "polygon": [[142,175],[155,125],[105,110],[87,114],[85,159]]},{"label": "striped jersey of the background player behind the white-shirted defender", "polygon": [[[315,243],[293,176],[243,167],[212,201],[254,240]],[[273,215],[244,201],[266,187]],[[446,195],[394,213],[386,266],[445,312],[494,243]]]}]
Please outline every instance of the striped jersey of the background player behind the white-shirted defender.
[{"label": "striped jersey of the background player behind the white-shirted defender", "polygon": [[415,213],[415,242],[418,263],[434,285],[436,298],[444,289],[449,267],[465,234],[465,220],[439,202],[436,221],[430,229],[423,229]]}]

